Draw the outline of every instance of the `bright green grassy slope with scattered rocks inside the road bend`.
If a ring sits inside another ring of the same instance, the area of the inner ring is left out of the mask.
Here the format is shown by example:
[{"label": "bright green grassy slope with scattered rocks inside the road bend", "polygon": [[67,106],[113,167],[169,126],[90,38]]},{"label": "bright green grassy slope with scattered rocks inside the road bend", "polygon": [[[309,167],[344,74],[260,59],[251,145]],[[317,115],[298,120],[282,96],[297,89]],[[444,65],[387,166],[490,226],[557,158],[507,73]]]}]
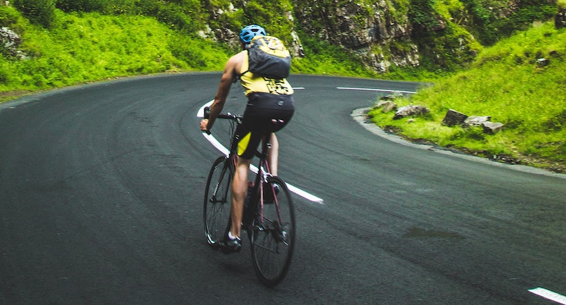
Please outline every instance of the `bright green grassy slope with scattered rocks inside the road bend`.
[{"label": "bright green grassy slope with scattered rocks inside the road bend", "polygon": [[[411,139],[467,150],[485,157],[563,171],[566,166],[566,29],[552,23],[520,32],[485,48],[469,70],[436,81],[399,106],[431,109],[428,118],[393,120],[393,113],[371,110],[373,121]],[[540,67],[537,59],[549,59]],[[442,126],[448,109],[489,115],[505,124],[486,135],[481,128]]]}]

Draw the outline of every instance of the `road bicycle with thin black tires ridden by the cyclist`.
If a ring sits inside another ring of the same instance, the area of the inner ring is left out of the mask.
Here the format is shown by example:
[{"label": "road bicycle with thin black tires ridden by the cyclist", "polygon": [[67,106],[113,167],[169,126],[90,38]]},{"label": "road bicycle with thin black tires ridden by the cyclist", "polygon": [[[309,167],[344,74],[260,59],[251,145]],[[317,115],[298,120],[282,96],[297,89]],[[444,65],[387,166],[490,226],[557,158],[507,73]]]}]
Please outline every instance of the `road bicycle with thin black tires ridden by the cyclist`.
[{"label": "road bicycle with thin black tires ridden by the cyclist", "polygon": [[[205,109],[205,118],[208,117]],[[226,236],[231,227],[231,186],[237,161],[235,127],[242,123],[241,115],[220,114],[228,119],[231,137],[228,155],[218,157],[208,174],[204,194],[204,233],[212,248]],[[276,122],[275,122],[276,123]],[[267,139],[271,135],[268,132]],[[248,197],[244,203],[242,231],[250,241],[251,257],[260,282],[273,287],[284,279],[295,245],[295,210],[286,183],[269,173],[266,161],[269,141],[264,141],[255,181],[248,182]],[[227,220],[226,220],[227,219]]]}]

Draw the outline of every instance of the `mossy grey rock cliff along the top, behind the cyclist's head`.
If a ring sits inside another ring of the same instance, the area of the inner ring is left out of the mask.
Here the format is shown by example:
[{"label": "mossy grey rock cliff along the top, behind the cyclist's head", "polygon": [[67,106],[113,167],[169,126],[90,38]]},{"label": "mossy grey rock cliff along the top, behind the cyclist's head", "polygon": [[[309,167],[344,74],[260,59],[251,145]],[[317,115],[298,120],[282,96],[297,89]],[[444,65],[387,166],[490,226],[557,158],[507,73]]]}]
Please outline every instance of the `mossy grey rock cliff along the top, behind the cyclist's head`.
[{"label": "mossy grey rock cliff along the top, behind the cyclist's head", "polygon": [[[556,0],[540,1],[556,3]],[[253,20],[250,17],[261,12],[255,1],[202,3],[207,3],[204,9],[215,22],[209,25],[212,28],[201,29],[198,35],[224,41],[235,49],[240,45],[235,32],[235,23],[239,22],[233,19],[246,16]],[[477,29],[481,26],[477,18],[505,19],[529,3],[523,0],[267,1],[264,5],[269,12],[257,19],[271,20],[275,24],[266,21],[264,26],[290,33],[280,38],[286,41],[293,57],[309,56],[295,32],[300,30],[304,37],[344,48],[375,72],[420,66],[425,70],[453,70],[473,61],[482,48],[471,35],[471,32],[482,35]]]}]

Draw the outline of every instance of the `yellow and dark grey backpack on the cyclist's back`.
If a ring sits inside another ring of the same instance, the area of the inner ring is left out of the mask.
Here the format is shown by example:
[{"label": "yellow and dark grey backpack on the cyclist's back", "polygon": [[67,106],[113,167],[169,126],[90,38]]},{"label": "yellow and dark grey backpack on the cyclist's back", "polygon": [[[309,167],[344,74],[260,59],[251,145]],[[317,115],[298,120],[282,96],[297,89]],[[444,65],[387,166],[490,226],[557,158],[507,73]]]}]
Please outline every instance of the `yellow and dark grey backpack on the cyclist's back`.
[{"label": "yellow and dark grey backpack on the cyclist's back", "polygon": [[284,79],[289,76],[289,70],[291,70],[291,54],[280,39],[273,36],[253,37],[248,48],[246,72],[270,79]]}]

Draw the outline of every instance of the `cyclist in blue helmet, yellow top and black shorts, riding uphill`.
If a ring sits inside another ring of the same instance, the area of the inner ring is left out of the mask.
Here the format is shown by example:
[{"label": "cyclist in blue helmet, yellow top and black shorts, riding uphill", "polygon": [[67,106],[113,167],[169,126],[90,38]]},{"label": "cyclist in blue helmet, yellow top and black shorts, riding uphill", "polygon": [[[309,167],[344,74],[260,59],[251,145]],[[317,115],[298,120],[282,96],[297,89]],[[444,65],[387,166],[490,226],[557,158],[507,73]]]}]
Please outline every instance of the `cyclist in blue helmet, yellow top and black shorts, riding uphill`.
[{"label": "cyclist in blue helmet, yellow top and black shorts, riding uphill", "polygon": [[[240,32],[242,52],[237,53],[224,66],[224,73],[220,79],[218,91],[211,105],[211,113],[208,119],[200,122],[202,131],[209,131],[214,121],[222,111],[228,97],[228,92],[233,82],[240,79],[244,87],[248,103],[244,110],[242,124],[236,130],[236,141],[238,143],[239,156],[232,182],[231,202],[231,229],[228,236],[219,242],[224,253],[239,252],[242,248],[240,229],[242,226],[242,214],[244,211],[244,200],[248,190],[248,172],[251,159],[260,142],[265,141],[265,133],[269,130],[278,131],[283,128],[293,117],[295,106],[293,104],[293,88],[286,79],[271,79],[260,77],[248,71],[248,52],[251,40],[257,35],[266,36],[266,31],[261,26],[246,26]],[[273,129],[273,119],[279,125]],[[271,134],[271,148],[268,150],[268,163],[272,175],[277,175],[277,152],[279,143],[275,134]]]}]

